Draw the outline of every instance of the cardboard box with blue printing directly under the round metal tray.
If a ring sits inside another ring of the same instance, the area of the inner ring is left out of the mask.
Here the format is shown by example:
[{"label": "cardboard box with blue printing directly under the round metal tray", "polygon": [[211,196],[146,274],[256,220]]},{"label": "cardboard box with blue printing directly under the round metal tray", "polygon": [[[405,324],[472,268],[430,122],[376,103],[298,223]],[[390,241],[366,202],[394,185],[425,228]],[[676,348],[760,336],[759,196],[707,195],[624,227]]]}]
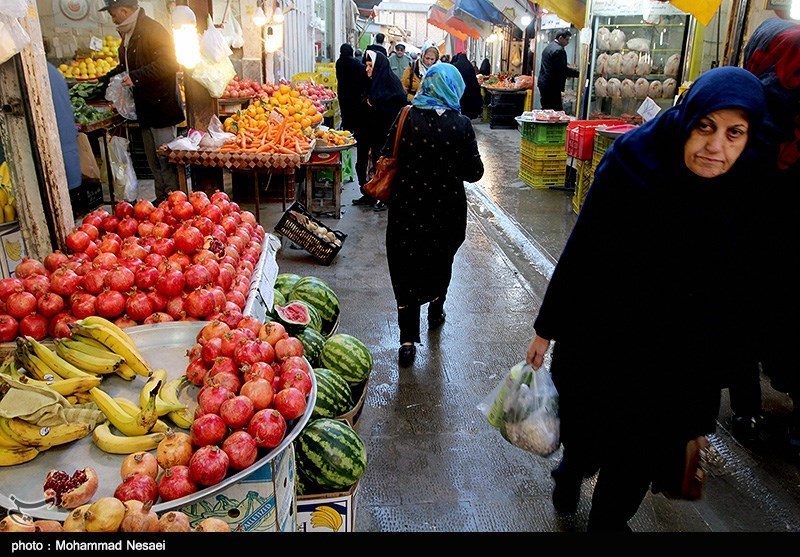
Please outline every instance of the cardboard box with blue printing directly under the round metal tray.
[{"label": "cardboard box with blue printing directly under the round metal tray", "polygon": [[296,532],[294,445],[250,476],[180,510],[194,528],[204,518],[221,518],[234,532]]}]

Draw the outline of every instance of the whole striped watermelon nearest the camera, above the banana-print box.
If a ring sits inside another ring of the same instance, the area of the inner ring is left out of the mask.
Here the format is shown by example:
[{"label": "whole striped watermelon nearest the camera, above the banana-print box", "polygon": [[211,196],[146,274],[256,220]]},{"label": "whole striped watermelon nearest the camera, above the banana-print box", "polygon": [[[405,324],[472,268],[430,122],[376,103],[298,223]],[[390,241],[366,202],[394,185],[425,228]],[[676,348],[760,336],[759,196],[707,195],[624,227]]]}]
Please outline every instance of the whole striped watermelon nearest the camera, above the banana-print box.
[{"label": "whole striped watermelon nearest the camera, above the banana-print box", "polygon": [[295,439],[297,472],[304,485],[344,491],[367,467],[367,451],[358,433],[331,418],[311,420]]}]

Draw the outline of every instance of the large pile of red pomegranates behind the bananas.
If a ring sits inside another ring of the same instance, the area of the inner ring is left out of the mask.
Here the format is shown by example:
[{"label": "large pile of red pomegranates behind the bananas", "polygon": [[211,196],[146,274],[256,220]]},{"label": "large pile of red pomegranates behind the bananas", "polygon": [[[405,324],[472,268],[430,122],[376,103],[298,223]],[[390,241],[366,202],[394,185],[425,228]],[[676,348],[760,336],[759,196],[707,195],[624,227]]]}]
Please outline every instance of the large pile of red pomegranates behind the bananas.
[{"label": "large pile of red pomegranates behind the bananas", "polygon": [[120,327],[214,319],[235,327],[264,235],[222,191],[96,209],[65,251],[23,259],[0,280],[0,342],[69,336],[69,323],[89,315]]}]

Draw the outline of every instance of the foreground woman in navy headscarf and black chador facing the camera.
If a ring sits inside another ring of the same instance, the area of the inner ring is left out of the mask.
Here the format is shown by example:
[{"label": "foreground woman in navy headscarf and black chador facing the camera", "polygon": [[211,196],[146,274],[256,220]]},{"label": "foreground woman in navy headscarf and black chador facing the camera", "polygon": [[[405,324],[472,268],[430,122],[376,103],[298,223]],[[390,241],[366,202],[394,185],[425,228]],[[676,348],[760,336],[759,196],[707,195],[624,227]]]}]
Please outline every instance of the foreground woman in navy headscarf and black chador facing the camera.
[{"label": "foreground woman in navy headscarf and black chador facing the camera", "polygon": [[715,431],[721,387],[748,361],[747,149],[763,106],[758,79],[721,67],[617,138],[553,272],[526,360],[538,370],[555,341],[553,505],[574,512],[599,470],[590,531],[629,531],[648,489],[680,487],[687,443]]}]

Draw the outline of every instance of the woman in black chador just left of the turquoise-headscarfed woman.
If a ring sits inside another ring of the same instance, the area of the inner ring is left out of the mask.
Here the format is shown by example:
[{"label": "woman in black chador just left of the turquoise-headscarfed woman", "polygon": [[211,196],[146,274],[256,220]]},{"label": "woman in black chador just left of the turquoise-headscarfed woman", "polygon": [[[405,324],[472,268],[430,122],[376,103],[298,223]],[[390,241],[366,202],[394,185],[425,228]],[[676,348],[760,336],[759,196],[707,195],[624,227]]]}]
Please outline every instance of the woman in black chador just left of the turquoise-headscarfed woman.
[{"label": "woman in black chador just left of the turquoise-headscarfed woman", "polygon": [[[386,141],[386,134],[397,117],[400,109],[408,104],[405,91],[400,80],[392,71],[389,59],[380,52],[366,51],[367,76],[369,76],[369,89],[364,99],[364,126],[369,144],[369,159],[373,167],[378,162],[381,147]],[[361,170],[359,170],[359,167]],[[367,172],[367,157],[356,161],[356,172]],[[361,176],[361,174],[359,174]],[[364,182],[359,179],[361,193],[359,199],[353,201],[354,205],[373,205],[376,211],[383,211],[386,205],[373,199],[364,191]]]}]

